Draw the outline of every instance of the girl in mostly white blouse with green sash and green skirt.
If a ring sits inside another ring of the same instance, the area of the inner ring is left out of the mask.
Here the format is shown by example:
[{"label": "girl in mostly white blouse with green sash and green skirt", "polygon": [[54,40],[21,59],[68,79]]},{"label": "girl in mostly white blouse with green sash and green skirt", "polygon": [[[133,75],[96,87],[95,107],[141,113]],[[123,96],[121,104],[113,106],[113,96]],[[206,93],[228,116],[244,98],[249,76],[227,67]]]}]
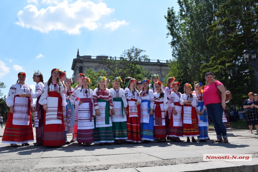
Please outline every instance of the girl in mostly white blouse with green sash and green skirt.
[{"label": "girl in mostly white blouse with green sash and green skirt", "polygon": [[113,88],[111,88],[110,95],[113,101],[113,109],[112,109],[112,128],[115,144],[121,145],[122,139],[127,139],[127,127],[126,127],[126,116],[128,111],[126,107],[128,105],[127,100],[125,98],[125,92],[122,88],[120,88],[120,83],[122,79],[120,77],[116,77],[113,82]]}]

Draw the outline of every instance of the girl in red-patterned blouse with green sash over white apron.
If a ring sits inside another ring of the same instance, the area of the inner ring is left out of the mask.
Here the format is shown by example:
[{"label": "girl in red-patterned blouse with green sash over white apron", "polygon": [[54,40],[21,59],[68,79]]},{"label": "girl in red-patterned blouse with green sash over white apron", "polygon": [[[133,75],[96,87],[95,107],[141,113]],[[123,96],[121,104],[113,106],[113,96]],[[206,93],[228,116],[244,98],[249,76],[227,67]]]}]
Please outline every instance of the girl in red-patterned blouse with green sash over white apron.
[{"label": "girl in red-patterned blouse with green sash over white apron", "polygon": [[105,86],[106,77],[98,77],[98,88],[94,89],[93,99],[96,117],[93,129],[94,143],[99,146],[111,145],[114,142],[111,114],[113,109],[110,91]]}]

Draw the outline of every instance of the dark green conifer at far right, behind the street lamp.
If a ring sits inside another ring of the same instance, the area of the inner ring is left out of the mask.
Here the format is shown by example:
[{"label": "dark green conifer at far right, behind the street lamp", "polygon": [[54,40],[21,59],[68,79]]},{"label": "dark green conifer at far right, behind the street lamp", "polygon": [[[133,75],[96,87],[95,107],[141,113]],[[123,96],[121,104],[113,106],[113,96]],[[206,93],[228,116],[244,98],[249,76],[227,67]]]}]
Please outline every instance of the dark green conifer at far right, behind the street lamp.
[{"label": "dark green conifer at far right, behind the street lamp", "polygon": [[215,44],[217,50],[210,62],[202,65],[202,76],[213,71],[231,91],[231,104],[242,106],[248,92],[256,92],[254,71],[245,64],[242,51],[258,48],[257,13],[257,1],[223,1],[214,14],[216,21],[208,26],[213,33],[208,44]]}]

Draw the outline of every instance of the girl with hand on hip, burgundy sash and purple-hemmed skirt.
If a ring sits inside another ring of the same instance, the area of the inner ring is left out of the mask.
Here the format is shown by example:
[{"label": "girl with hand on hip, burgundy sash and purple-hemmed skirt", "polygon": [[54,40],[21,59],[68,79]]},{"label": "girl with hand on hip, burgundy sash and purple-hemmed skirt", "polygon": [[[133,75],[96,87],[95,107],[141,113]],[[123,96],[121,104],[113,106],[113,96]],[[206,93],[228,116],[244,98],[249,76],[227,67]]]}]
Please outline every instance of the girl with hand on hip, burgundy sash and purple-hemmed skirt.
[{"label": "girl with hand on hip, burgundy sash and purple-hemmed skirt", "polygon": [[[93,90],[89,89],[90,78],[82,78],[82,87],[78,88],[70,97],[72,104],[78,107],[77,142],[82,146],[91,146],[94,142],[93,129],[95,109],[93,108]],[[79,102],[78,100],[79,99]]]}]

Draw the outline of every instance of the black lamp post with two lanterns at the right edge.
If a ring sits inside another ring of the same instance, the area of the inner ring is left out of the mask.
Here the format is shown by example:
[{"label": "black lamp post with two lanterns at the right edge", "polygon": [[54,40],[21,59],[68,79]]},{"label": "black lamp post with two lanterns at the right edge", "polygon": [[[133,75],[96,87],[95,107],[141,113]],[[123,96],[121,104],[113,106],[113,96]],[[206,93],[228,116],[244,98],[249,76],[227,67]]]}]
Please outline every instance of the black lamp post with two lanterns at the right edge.
[{"label": "black lamp post with two lanterns at the right edge", "polygon": [[256,94],[258,94],[258,78],[257,78],[258,63],[256,61],[256,51],[252,50],[250,52],[250,55],[251,55],[252,59],[250,59],[250,62],[249,62],[249,51],[248,50],[244,50],[243,51],[244,62],[246,62],[246,64],[248,64],[248,62],[249,62],[249,65],[254,68],[255,78],[256,78],[256,89],[257,89],[257,93]]}]

